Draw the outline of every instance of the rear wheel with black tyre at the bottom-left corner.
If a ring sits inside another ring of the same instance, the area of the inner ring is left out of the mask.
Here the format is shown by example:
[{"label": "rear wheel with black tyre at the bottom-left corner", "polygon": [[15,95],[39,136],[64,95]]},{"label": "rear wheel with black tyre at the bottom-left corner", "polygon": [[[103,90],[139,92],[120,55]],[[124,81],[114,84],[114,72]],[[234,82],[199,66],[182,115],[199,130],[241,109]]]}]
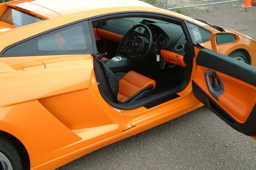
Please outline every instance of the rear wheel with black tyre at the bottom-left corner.
[{"label": "rear wheel with black tyre at the bottom-left corner", "polygon": [[0,170],[22,170],[20,155],[4,135],[0,135]]}]

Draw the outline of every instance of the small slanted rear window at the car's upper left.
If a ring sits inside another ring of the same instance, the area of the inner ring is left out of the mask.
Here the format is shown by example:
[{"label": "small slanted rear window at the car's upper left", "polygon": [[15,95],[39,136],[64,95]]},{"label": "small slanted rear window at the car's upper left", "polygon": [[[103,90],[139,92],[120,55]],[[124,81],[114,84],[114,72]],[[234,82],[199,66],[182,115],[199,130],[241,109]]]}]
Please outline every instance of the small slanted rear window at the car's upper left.
[{"label": "small slanted rear window at the car's upper left", "polygon": [[0,17],[0,21],[11,24],[14,27],[26,26],[43,20],[43,18],[11,7],[8,7]]}]

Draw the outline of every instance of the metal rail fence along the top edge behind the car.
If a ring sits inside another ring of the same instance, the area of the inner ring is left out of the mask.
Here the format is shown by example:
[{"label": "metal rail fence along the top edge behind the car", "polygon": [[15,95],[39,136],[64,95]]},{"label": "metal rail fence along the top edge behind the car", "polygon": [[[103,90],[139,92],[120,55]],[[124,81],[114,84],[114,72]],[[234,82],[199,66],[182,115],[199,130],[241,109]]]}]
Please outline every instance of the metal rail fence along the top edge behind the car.
[{"label": "metal rail fence along the top edge behind the car", "polygon": [[223,4],[228,2],[233,2],[235,3],[235,5],[238,5],[239,3],[239,0],[148,0],[148,1],[149,2],[151,1],[151,3],[153,2],[154,5],[161,6],[168,10],[177,9],[177,8]]}]

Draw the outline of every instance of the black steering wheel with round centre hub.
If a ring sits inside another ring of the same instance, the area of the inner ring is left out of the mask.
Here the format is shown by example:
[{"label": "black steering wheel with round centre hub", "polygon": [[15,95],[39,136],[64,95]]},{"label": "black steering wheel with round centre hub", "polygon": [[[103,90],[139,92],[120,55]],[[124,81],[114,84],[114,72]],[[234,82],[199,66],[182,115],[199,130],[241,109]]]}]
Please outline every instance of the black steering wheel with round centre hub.
[{"label": "black steering wheel with round centre hub", "polygon": [[[148,32],[148,38],[143,36],[137,36],[134,39],[134,35],[132,35],[134,29],[142,27],[145,28],[145,31]],[[151,51],[153,45],[153,38],[150,29],[143,25],[137,24],[133,26],[126,34],[125,39],[125,50],[127,57],[133,60],[143,60]]]}]

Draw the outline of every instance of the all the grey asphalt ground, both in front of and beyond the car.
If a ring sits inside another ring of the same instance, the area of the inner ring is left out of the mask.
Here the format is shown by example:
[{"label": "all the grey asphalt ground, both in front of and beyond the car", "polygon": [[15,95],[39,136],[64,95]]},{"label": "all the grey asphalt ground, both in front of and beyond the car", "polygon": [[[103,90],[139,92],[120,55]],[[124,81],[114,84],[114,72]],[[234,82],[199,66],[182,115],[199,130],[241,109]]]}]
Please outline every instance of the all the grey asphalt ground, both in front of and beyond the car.
[{"label": "all the grey asphalt ground, both in front of and beyond the car", "polygon": [[[208,10],[206,10],[208,9]],[[210,11],[210,12],[207,12]],[[256,38],[256,7],[183,9],[185,15]],[[58,170],[256,169],[256,141],[206,107],[98,149]]]}]

